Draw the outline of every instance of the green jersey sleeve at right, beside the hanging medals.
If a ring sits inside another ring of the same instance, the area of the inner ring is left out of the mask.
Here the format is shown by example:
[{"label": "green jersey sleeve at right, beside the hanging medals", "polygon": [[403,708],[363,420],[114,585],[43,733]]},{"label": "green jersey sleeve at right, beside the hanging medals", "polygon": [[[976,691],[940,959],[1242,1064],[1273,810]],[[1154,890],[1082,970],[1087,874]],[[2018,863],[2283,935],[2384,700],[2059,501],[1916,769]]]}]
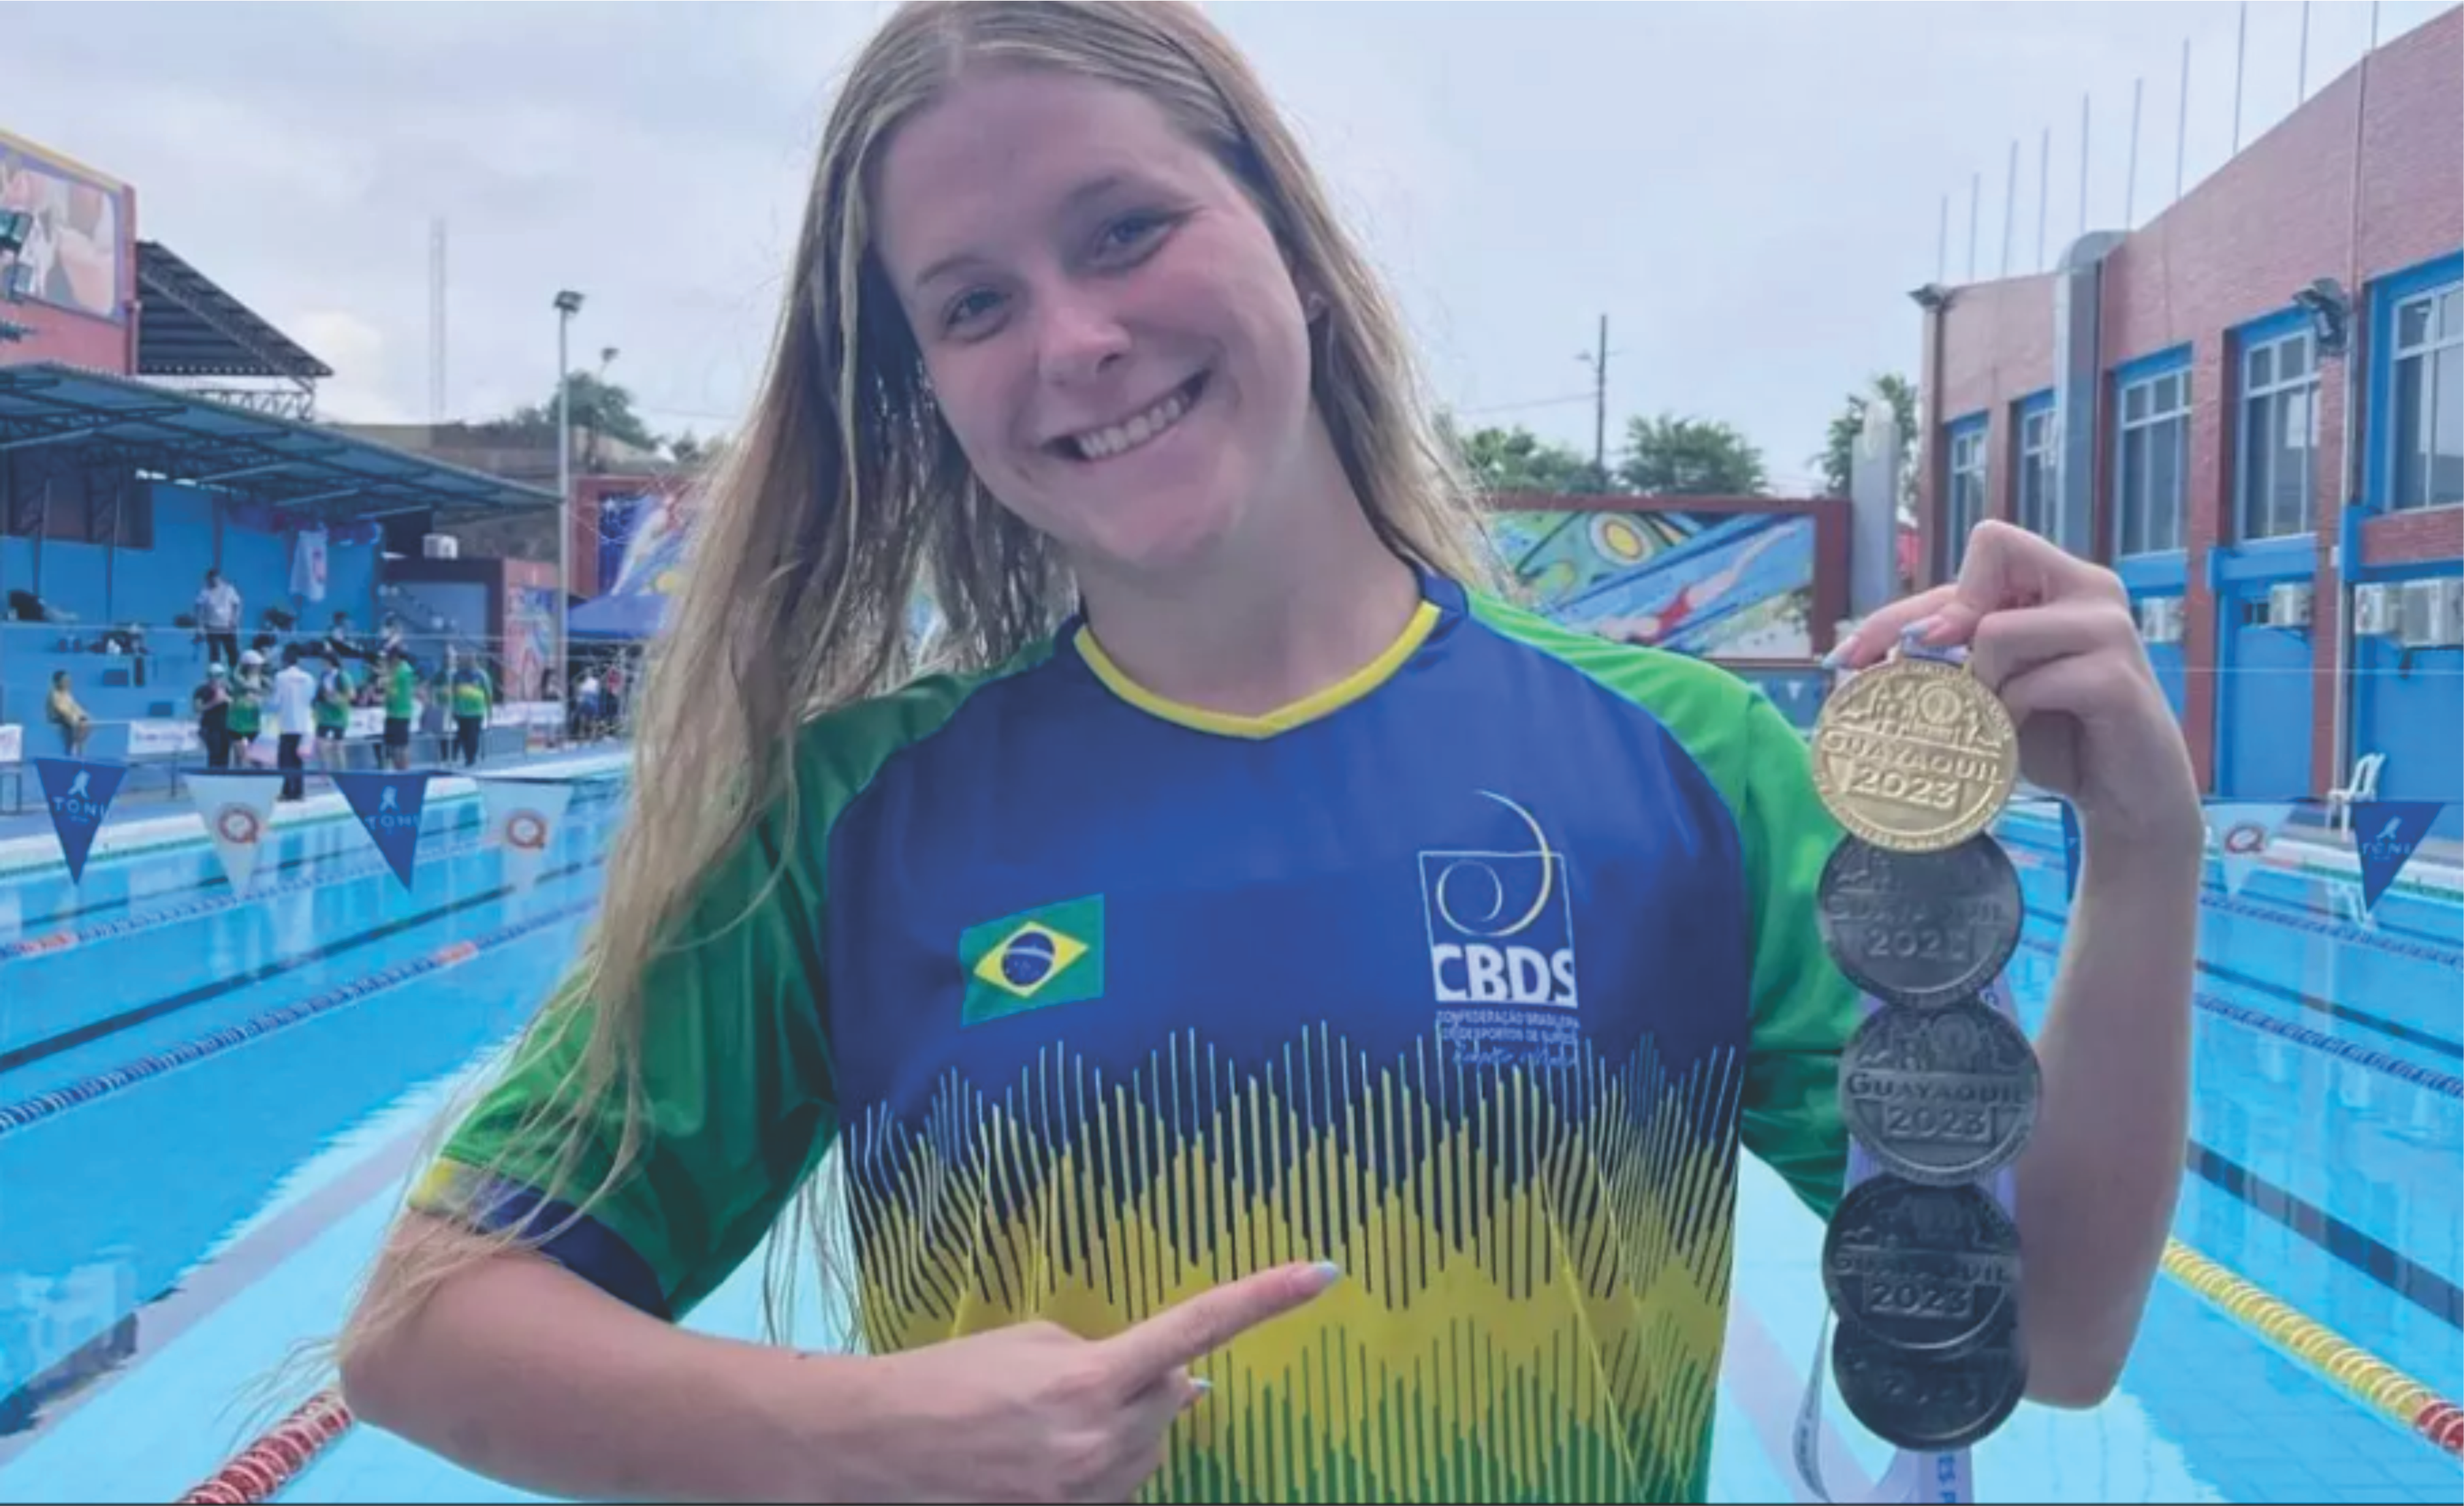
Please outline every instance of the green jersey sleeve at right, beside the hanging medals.
[{"label": "green jersey sleeve at right, beside the hanging medals", "polygon": [[1848,1176],[1841,1052],[1855,986],[1831,961],[1814,892],[1841,828],[1814,791],[1814,757],[1772,698],[1747,690],[1730,808],[1754,900],[1754,1033],[1745,1067],[1745,1146],[1821,1218]]}]

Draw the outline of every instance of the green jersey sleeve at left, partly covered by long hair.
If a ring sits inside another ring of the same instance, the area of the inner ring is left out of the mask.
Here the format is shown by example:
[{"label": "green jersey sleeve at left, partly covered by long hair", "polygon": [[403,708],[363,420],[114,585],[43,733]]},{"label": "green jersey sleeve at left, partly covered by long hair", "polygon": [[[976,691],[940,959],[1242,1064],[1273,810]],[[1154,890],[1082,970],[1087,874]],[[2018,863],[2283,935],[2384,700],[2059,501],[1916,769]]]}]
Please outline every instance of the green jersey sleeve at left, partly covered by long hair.
[{"label": "green jersey sleeve at left, partly covered by long hair", "polygon": [[[759,823],[712,868],[650,961],[641,1144],[614,1186],[601,1193],[626,1097],[621,1087],[599,1094],[574,1124],[594,1003],[567,981],[453,1131],[416,1200],[505,1223],[520,1218],[505,1191],[537,1193],[549,1200],[540,1232],[564,1223],[557,1203],[582,1208],[589,1225],[559,1235],[562,1250],[549,1240],[547,1252],[638,1306],[663,1306],[663,1316],[683,1316],[717,1289],[771,1230],[835,1129],[821,1025],[821,841],[808,831],[816,823]],[[655,1282],[655,1304],[638,1299],[643,1279]]]}]

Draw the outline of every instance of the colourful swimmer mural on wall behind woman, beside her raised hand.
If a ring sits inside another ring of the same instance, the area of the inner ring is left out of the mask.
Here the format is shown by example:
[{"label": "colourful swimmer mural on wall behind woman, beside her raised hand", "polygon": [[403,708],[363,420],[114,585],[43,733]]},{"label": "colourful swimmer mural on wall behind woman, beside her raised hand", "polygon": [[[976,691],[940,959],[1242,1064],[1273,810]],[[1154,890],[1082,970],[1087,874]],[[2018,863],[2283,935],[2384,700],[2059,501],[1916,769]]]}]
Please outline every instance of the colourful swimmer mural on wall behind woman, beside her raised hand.
[{"label": "colourful swimmer mural on wall behind woman, beside her raised hand", "polygon": [[1496,513],[1533,604],[1624,643],[1705,658],[1809,658],[1814,518],[1794,513]]}]

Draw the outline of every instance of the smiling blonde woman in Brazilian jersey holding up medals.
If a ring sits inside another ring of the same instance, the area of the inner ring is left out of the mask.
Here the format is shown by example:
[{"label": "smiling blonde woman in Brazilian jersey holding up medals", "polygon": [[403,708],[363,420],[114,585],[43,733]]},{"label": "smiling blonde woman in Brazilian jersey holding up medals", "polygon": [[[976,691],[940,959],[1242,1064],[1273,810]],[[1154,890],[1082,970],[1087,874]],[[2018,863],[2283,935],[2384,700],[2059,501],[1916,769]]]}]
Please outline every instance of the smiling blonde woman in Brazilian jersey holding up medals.
[{"label": "smiling blonde woman in Brazilian jersey holding up medals", "polygon": [[[1740,680],[1488,594],[1198,10],[882,27],[700,527],[596,939],[345,1333],[365,1420],[601,1499],[1700,1499],[1735,1151],[1841,1191],[1838,833]],[[2020,1168],[2033,1395],[2087,1405],[2181,1176],[2195,789],[2109,574],[1988,525],[1843,658],[1922,619],[2087,813]],[[860,1353],[680,1329],[823,1183]]]}]

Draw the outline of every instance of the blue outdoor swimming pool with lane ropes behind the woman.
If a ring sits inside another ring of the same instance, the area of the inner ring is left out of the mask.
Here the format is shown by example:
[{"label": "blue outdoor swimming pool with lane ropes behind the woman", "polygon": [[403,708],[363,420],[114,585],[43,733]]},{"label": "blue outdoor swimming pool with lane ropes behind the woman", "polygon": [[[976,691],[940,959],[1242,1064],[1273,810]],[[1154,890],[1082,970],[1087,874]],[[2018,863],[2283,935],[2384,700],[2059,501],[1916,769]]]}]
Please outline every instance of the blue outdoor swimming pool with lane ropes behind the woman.
[{"label": "blue outdoor swimming pool with lane ropes behind the woman", "polygon": [[[572,954],[616,779],[582,779],[530,892],[453,786],[411,890],[330,801],[276,828],[244,900],[202,843],[99,855],[84,890],[57,863],[0,873],[0,1501],[172,1501],[254,1437],[237,1388],[333,1326],[426,1119]],[[2035,1028],[2057,828],[2018,813],[2006,843]],[[2117,1395],[2023,1407],[1979,1449],[1984,1499],[2464,1491],[2405,1425],[2464,1395],[2464,905],[2402,885],[2356,919],[2353,890],[2333,858],[2274,860],[2240,895],[2210,870],[2168,1274]],[[1818,1235],[1749,1163],[1715,1499],[1806,1499],[1786,1459]],[[756,1333],[759,1267],[692,1326]],[[1836,1402],[1828,1427],[1833,1494],[1873,1479],[1885,1452]],[[281,1499],[530,1496],[352,1430]]]}]

